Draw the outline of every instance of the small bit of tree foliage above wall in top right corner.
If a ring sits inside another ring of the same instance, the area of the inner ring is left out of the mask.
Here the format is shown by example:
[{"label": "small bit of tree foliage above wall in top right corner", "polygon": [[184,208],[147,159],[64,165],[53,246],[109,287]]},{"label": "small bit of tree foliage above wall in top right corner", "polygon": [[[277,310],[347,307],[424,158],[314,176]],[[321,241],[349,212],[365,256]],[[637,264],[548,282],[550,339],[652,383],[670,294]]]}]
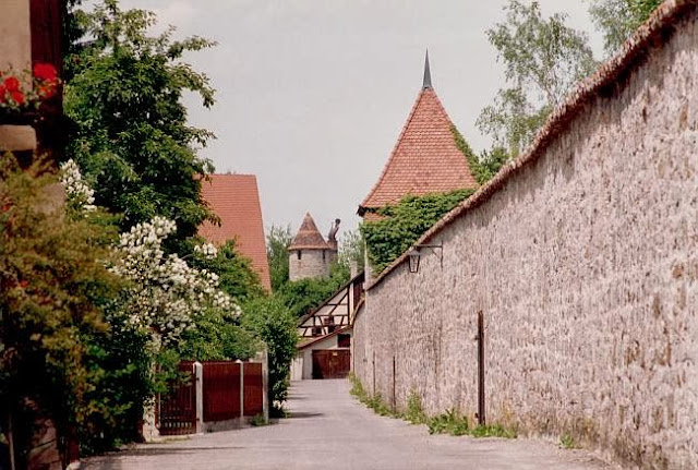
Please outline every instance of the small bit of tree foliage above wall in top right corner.
[{"label": "small bit of tree foliage above wall in top right corner", "polygon": [[591,0],[589,13],[603,33],[604,49],[615,53],[663,0]]}]

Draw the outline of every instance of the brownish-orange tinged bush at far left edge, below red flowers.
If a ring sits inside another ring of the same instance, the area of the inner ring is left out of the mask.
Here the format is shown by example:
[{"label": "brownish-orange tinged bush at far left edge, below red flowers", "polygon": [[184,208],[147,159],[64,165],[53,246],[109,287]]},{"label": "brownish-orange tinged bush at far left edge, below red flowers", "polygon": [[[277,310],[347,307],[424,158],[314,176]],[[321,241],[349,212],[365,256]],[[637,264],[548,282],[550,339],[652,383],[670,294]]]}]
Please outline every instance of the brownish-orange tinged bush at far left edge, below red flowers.
[{"label": "brownish-orange tinged bush at far left edge, below red flowers", "polygon": [[97,262],[111,233],[65,217],[49,198],[56,179],[36,171],[0,157],[0,420],[20,468],[35,418],[64,436],[99,406],[89,341],[109,334],[101,310],[119,287]]}]

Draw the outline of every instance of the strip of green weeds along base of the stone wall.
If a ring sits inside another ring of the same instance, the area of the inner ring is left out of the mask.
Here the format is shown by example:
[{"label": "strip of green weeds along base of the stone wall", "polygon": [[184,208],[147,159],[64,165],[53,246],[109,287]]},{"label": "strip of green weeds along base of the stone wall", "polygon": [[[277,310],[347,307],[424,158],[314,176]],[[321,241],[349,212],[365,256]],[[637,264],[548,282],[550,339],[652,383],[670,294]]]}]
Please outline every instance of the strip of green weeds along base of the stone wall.
[{"label": "strip of green weeds along base of the stone wall", "polygon": [[455,409],[435,417],[428,417],[422,409],[421,398],[417,391],[412,391],[408,397],[407,409],[405,411],[393,410],[383,401],[380,394],[369,395],[353,373],[349,375],[349,379],[351,382],[351,390],[349,393],[377,414],[399,418],[411,424],[426,424],[429,426],[429,434],[450,434],[452,436],[469,435],[471,437],[517,437],[515,429],[505,427],[502,424],[470,427],[468,417],[460,414]]}]

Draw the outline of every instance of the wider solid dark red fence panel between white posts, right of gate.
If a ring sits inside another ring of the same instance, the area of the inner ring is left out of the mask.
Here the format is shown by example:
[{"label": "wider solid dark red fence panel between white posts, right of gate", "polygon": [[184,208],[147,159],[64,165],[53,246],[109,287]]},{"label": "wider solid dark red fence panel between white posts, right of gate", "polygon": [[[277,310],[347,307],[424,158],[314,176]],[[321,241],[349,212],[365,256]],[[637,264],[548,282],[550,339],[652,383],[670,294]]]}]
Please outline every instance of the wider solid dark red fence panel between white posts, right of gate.
[{"label": "wider solid dark red fence panel between white posts, right of gate", "polygon": [[204,421],[240,418],[240,364],[207,361],[204,365]]}]

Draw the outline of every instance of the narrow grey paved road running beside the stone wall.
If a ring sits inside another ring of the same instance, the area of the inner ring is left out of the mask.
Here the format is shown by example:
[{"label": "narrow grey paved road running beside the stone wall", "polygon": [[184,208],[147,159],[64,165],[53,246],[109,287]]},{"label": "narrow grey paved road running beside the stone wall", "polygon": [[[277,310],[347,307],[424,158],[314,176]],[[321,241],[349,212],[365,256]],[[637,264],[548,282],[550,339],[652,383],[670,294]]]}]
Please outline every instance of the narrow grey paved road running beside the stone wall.
[{"label": "narrow grey paved road running beside the stone wall", "polygon": [[582,450],[530,439],[430,436],[426,426],[382,418],[349,395],[347,381],[291,387],[279,424],[194,436],[88,459],[87,470],[155,469],[612,469]]}]

